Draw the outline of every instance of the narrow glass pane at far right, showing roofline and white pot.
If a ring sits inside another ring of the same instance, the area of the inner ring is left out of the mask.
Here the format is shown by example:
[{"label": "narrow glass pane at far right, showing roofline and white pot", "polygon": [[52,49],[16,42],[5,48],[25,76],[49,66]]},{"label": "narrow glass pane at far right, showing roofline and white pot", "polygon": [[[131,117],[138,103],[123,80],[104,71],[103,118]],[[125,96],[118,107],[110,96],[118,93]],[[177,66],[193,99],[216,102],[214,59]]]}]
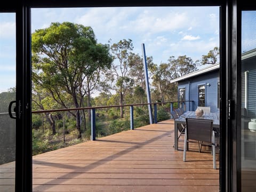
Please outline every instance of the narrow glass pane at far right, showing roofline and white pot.
[{"label": "narrow glass pane at far right, showing roofline and white pot", "polygon": [[242,191],[256,189],[256,11],[242,12]]}]

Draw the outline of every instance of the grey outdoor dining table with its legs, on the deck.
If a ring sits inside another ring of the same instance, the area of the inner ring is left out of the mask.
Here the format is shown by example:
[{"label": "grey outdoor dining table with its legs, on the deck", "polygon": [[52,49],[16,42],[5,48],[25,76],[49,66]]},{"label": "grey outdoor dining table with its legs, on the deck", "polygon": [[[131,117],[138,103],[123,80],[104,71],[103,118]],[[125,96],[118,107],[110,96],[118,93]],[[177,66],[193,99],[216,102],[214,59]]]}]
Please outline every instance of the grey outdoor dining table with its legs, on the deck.
[{"label": "grey outdoor dining table with its legs, on the deck", "polygon": [[178,124],[186,124],[186,118],[201,118],[201,119],[212,119],[213,120],[213,130],[220,133],[220,115],[219,113],[204,113],[203,116],[196,116],[195,111],[186,111],[179,118],[174,119],[174,146],[175,150],[179,149],[178,146]]}]

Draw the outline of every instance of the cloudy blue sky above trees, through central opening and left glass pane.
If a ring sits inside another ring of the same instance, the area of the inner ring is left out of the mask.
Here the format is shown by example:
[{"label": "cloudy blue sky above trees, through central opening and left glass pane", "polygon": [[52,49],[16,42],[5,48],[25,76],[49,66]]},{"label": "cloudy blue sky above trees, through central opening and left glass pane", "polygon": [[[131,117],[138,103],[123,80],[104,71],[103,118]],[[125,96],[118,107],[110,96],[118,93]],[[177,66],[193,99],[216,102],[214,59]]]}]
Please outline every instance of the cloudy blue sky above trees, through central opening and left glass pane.
[{"label": "cloudy blue sky above trees, through central opening and left glass pane", "polygon": [[[31,33],[51,22],[92,27],[98,43],[132,39],[133,52],[153,62],[187,55],[200,60],[219,46],[219,7],[90,7],[31,9]],[[0,93],[15,86],[15,15],[0,13]]]}]

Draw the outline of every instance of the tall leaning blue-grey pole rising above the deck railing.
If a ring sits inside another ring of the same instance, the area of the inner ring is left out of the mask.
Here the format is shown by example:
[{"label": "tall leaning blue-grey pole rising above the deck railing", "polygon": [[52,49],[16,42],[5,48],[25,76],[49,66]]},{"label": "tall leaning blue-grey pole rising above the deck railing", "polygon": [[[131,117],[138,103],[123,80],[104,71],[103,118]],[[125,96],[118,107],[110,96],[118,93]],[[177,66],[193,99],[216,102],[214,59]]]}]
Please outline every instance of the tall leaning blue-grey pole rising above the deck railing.
[{"label": "tall leaning blue-grey pole rising above the deck railing", "polygon": [[[142,47],[142,55],[143,55],[143,63],[144,63],[144,73],[145,73],[147,99],[148,99],[148,103],[151,103],[149,81],[148,81],[148,66],[147,66],[147,58],[146,58],[146,51],[145,51],[144,43],[141,44],[141,47]],[[148,113],[149,113],[149,123],[153,124],[153,114],[152,114],[151,105],[148,105]]]}]

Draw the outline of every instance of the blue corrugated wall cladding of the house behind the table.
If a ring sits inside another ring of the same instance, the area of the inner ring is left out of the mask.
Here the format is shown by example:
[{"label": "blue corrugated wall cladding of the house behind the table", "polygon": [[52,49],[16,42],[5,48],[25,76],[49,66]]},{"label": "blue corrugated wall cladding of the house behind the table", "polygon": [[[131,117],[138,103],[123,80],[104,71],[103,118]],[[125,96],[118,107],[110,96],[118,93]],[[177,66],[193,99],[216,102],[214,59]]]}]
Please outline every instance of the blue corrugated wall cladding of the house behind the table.
[{"label": "blue corrugated wall cladding of the house behind the table", "polygon": [[[193,105],[186,103],[186,110],[196,110],[198,106],[198,86],[205,85],[205,106],[211,107],[211,112],[219,112],[218,82],[219,69],[178,82],[178,89],[186,87],[186,100],[194,101]],[[207,84],[210,86],[207,86]]]}]

